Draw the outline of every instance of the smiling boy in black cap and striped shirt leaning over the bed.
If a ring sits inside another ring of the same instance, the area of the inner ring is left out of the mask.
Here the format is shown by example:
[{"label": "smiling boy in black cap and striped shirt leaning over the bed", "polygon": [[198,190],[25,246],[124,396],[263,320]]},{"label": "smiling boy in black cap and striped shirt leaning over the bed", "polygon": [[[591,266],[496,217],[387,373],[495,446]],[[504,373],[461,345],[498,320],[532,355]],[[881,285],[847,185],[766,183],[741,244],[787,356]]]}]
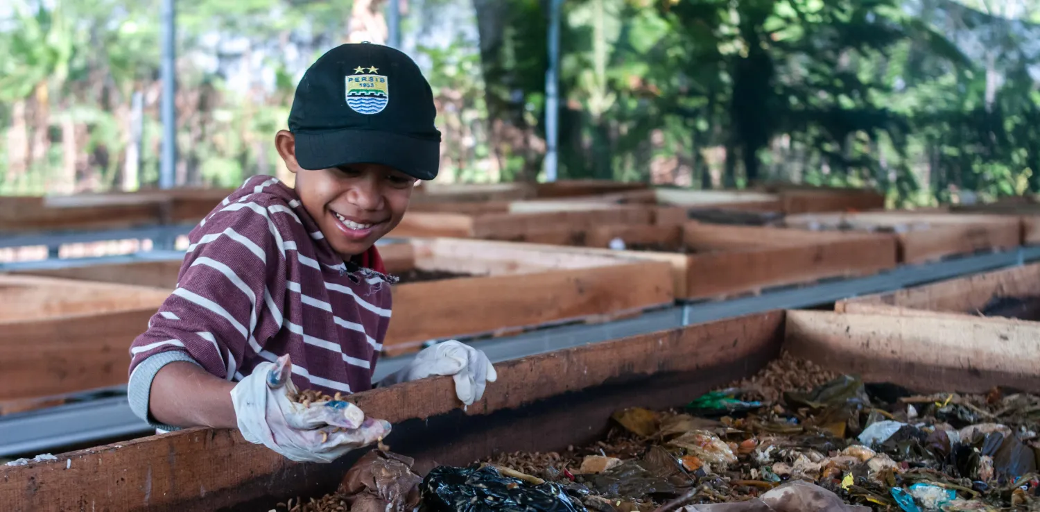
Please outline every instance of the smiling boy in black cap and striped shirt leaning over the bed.
[{"label": "smiling boy in black cap and striped shirt leaning over the bed", "polygon": [[[374,244],[405,215],[416,180],[437,176],[435,117],[404,53],[352,44],[322,55],[275,137],[294,187],[250,178],[191,231],[177,287],[130,349],[134,412],[166,430],[237,427],[300,461],[389,433],[346,402],[303,407],[290,395],[373,386],[393,281]],[[382,384],[431,375],[453,376],[466,404],[495,380],[482,352],[447,341]]]}]

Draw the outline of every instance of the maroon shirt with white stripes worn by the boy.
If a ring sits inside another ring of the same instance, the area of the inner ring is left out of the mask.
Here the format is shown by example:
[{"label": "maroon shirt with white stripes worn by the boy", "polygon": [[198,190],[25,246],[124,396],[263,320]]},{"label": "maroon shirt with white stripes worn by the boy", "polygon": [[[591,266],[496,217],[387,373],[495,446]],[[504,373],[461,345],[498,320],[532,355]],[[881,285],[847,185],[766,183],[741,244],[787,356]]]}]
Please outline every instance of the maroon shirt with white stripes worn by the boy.
[{"label": "maroon shirt with white stripes worn by the boy", "polygon": [[[177,287],[130,347],[131,407],[148,415],[155,374],[191,361],[238,381],[289,354],[301,389],[352,393],[371,377],[390,322],[389,278],[344,263],[276,178],[255,176],[188,235]],[[363,258],[382,268],[375,248]]]}]

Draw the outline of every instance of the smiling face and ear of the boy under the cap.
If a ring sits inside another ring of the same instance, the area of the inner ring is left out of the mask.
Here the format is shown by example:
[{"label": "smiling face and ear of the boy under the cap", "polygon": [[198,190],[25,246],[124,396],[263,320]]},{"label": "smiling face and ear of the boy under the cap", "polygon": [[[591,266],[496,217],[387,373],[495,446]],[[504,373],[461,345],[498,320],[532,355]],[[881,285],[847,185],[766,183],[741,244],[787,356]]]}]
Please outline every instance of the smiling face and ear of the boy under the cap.
[{"label": "smiling face and ear of the boy under the cap", "polygon": [[296,194],[304,208],[344,259],[367,251],[405,216],[415,178],[378,163],[301,169],[295,139],[285,130],[278,133],[276,146],[296,175]]}]

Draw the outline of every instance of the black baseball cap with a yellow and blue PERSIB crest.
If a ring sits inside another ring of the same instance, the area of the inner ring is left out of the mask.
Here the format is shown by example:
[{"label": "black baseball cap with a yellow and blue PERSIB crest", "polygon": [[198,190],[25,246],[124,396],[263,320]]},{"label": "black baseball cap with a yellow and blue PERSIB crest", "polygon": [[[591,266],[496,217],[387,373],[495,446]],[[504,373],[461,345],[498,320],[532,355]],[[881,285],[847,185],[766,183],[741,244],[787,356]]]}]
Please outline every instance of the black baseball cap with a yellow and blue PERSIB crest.
[{"label": "black baseball cap with a yellow and blue PERSIB crest", "polygon": [[358,43],[321,55],[296,86],[289,131],[305,170],[382,163],[432,180],[441,132],[430,83],[408,55]]}]

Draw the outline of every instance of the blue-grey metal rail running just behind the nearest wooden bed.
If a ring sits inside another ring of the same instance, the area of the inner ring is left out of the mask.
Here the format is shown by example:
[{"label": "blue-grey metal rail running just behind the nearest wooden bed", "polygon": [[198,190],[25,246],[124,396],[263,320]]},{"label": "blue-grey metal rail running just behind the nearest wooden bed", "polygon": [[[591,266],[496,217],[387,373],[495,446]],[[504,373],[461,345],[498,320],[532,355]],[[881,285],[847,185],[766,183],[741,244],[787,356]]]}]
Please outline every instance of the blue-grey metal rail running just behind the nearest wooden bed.
[{"label": "blue-grey metal rail running just behind the nearest wooden bed", "polygon": [[[934,263],[904,265],[863,278],[831,280],[814,285],[766,290],[755,297],[683,304],[606,324],[561,326],[517,336],[476,339],[469,342],[488,354],[492,361],[500,362],[771,309],[821,306],[840,299],[891,291],[1037,260],[1040,260],[1040,247],[1019,248]],[[378,380],[399,369],[408,364],[412,357],[401,356],[381,360],[374,378]],[[146,434],[151,431],[148,425],[133,415],[125,396],[62,405],[0,416],[0,457],[31,456],[70,444],[122,435]]]}]

